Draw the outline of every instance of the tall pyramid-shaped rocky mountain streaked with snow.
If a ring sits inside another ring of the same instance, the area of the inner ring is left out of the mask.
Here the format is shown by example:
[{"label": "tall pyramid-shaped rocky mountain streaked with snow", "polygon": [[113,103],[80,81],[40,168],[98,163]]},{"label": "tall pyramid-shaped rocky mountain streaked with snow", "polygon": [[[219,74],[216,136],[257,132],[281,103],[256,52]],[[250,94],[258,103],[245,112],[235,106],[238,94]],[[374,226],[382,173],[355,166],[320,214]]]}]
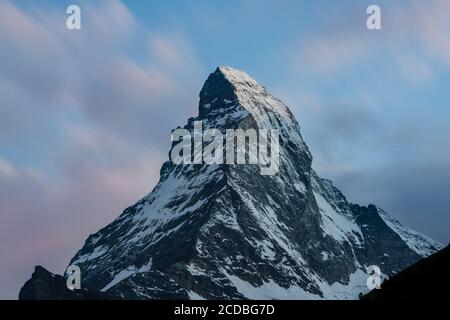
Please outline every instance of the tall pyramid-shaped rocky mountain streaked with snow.
[{"label": "tall pyramid-shaped rocky mountain streaked with snow", "polygon": [[84,287],[132,299],[353,299],[367,291],[367,266],[392,275],[441,248],[320,178],[288,107],[243,71],[208,77],[184,128],[194,121],[278,129],[278,173],[165,162],[154,190],[70,261]]}]

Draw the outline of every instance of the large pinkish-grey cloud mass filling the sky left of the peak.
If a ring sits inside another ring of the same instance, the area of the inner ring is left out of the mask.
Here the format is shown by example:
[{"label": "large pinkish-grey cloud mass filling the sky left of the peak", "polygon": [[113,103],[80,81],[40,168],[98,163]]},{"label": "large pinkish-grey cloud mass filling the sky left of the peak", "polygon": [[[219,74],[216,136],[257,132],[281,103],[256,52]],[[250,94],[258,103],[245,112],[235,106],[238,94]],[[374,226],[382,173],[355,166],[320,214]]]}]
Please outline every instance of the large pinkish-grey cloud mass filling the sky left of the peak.
[{"label": "large pinkish-grey cloud mass filling the sky left of the peak", "polygon": [[82,8],[68,31],[64,11],[0,3],[1,298],[35,264],[62,272],[148,193],[196,110],[203,67],[186,35],[147,30],[120,1]]}]

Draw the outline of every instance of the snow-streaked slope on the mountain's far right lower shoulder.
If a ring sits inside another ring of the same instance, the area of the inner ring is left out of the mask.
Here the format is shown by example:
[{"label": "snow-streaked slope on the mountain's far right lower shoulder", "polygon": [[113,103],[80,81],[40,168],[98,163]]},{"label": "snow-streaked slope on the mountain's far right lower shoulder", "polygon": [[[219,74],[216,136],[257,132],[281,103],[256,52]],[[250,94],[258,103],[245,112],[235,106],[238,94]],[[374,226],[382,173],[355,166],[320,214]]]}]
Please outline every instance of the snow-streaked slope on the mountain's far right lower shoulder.
[{"label": "snow-streaked slope on the mountain's far right lower shoulder", "polygon": [[397,233],[406,245],[418,255],[422,257],[427,257],[434,253],[436,250],[443,248],[442,244],[432,240],[416,231],[413,231],[405,226],[402,226],[400,222],[384,212],[383,209],[378,208],[378,214],[383,219],[383,221],[391,228],[395,233]]}]

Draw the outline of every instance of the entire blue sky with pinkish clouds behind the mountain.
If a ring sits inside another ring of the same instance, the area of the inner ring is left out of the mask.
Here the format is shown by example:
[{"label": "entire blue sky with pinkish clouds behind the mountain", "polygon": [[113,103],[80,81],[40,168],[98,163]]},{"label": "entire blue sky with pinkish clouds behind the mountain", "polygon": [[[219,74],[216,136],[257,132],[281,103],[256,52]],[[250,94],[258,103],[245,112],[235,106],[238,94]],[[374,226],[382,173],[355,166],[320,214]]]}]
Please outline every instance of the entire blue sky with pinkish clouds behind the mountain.
[{"label": "entire blue sky with pinkish clouds behind the mountain", "polygon": [[447,244],[449,39],[446,0],[0,0],[0,298],[152,190],[219,65],[290,107],[348,200]]}]

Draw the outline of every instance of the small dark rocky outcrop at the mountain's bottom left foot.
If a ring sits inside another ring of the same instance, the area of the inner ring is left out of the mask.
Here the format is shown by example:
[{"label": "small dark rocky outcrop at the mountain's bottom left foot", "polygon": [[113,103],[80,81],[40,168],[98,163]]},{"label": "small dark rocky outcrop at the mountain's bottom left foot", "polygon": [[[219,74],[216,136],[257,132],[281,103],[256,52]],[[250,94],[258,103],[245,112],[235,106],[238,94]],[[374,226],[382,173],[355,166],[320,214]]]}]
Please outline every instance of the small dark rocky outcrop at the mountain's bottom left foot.
[{"label": "small dark rocky outcrop at the mountain's bottom left foot", "polygon": [[31,279],[25,282],[19,292],[19,300],[105,300],[111,297],[102,292],[90,290],[69,290],[63,276],[53,274],[36,266]]}]

